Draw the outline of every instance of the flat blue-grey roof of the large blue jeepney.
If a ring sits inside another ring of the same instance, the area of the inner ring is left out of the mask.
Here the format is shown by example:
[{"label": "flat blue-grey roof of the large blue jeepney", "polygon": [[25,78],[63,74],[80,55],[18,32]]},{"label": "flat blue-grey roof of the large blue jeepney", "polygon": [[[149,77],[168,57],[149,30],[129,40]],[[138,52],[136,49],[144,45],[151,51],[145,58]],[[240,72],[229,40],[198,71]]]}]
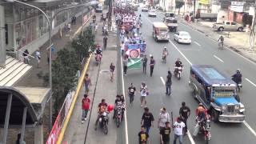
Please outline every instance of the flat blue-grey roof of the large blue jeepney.
[{"label": "flat blue-grey roof of the large blue jeepney", "polygon": [[214,66],[192,65],[191,70],[202,80],[202,82],[206,83],[206,85],[230,84],[236,86],[236,83],[233,82],[231,78],[226,77],[225,74],[222,74]]}]

